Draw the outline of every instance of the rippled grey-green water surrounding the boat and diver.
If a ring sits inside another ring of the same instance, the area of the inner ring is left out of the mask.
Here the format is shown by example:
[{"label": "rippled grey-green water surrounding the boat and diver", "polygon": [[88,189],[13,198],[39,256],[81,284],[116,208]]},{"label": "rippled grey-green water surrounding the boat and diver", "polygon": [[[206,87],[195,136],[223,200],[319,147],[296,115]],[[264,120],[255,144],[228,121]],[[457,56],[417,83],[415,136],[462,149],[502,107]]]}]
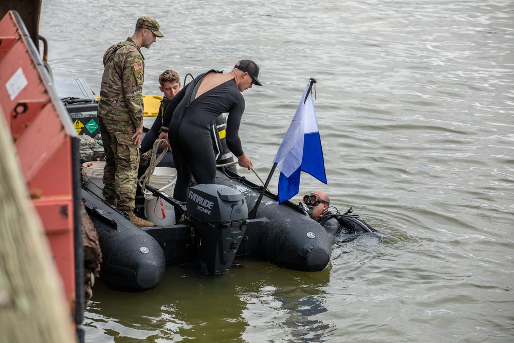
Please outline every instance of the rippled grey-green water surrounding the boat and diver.
[{"label": "rippled grey-green water surrounding the boat and diver", "polygon": [[88,342],[514,341],[512,1],[44,0],[54,76],[98,94],[104,51],[141,15],[165,35],[143,49],[145,94],[168,68],[259,63],[240,134],[261,176],[316,78],[328,185],[303,175],[301,194],[326,191],[390,241],[338,239],[320,273],[245,261],[168,267],[142,294],[97,282]]}]

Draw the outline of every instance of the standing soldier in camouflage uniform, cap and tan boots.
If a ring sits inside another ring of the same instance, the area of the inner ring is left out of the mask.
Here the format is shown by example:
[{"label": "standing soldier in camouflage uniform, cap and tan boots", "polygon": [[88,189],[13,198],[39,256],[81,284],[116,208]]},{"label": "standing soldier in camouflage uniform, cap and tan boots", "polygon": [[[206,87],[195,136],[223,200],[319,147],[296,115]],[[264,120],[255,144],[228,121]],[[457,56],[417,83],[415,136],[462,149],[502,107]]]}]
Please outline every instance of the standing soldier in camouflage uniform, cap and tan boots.
[{"label": "standing soldier in camouflage uniform, cap and tan boots", "polygon": [[132,37],[105,51],[98,119],[107,163],[103,196],[126,211],[132,223],[153,226],[134,214],[139,148],[143,133],[144,57],[156,37],[164,37],[159,24],[148,16],[136,23]]}]

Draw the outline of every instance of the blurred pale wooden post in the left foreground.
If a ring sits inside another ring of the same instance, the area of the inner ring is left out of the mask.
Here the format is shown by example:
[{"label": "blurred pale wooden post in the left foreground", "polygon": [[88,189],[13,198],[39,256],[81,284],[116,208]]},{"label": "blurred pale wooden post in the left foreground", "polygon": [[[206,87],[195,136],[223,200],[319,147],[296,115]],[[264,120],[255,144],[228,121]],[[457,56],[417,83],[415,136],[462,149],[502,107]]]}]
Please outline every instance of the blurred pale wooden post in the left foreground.
[{"label": "blurred pale wooden post in the left foreground", "polygon": [[0,108],[0,342],[74,342],[71,309],[16,154]]}]

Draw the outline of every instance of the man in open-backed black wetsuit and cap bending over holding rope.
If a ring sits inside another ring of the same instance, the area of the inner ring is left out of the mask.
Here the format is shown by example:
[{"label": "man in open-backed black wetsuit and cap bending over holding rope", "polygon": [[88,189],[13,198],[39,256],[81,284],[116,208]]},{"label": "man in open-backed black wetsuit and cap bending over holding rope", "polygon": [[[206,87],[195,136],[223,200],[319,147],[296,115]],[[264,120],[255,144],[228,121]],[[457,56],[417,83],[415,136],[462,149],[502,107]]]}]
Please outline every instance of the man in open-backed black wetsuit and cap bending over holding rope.
[{"label": "man in open-backed black wetsuit and cap bending over holding rope", "polygon": [[159,138],[168,138],[173,152],[177,168],[174,198],[186,201],[191,176],[197,184],[214,183],[216,159],[211,126],[223,113],[228,113],[226,142],[229,150],[241,167],[253,166],[241,146],[239,127],[245,111],[245,98],[241,93],[253,84],[262,86],[258,77],[259,66],[251,60],[243,60],[237,62],[230,73],[211,69],[198,75],[170,100]]}]

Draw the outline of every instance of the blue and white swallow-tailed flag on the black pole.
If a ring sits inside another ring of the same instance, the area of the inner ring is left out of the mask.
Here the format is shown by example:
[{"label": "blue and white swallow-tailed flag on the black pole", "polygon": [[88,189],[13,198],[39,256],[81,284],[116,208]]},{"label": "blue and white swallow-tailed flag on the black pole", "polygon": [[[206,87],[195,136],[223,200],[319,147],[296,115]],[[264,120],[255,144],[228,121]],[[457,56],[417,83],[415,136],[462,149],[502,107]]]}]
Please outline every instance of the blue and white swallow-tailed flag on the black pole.
[{"label": "blue and white swallow-tailed flag on the black pole", "polygon": [[[301,171],[326,184],[325,162],[310,82],[273,160],[280,169],[279,203],[298,194]],[[307,92],[309,94],[307,94]]]}]

